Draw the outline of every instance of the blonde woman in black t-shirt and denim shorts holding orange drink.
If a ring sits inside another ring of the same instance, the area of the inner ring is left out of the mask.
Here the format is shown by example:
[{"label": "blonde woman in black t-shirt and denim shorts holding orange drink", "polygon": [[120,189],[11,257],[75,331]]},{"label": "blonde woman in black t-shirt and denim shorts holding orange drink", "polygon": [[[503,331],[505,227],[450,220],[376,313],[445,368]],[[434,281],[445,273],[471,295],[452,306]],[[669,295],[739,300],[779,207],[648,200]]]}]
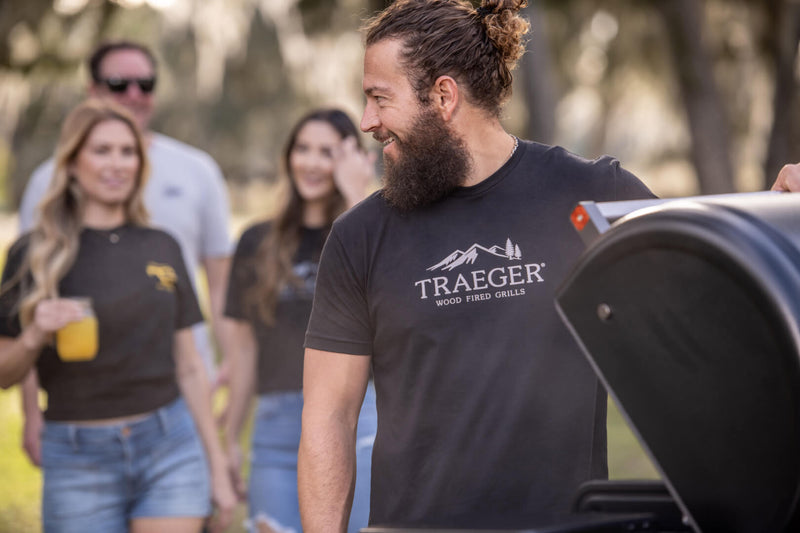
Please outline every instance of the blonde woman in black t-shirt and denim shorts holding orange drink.
[{"label": "blonde woman in black t-shirt and denim shorts holding orange drink", "polygon": [[[0,385],[35,365],[48,393],[45,532],[198,532],[212,500],[219,528],[235,505],[192,339],[197,299],[178,244],[147,227],[145,153],[122,108],[75,108],[40,221],[3,271]],[[54,343],[85,316],[76,298],[97,317],[88,360]]]}]

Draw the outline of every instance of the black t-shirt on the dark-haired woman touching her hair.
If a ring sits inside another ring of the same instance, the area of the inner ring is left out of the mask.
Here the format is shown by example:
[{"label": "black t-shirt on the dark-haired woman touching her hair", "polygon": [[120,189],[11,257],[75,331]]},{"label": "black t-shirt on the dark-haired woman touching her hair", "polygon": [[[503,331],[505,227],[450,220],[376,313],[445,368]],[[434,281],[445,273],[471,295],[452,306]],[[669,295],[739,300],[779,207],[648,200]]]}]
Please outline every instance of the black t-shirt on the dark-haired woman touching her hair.
[{"label": "black t-shirt on the dark-haired woman touching her hair", "polygon": [[266,324],[247,298],[253,290],[258,269],[259,245],[267,238],[270,223],[248,228],[239,239],[231,265],[225,315],[250,323],[258,347],[259,394],[296,391],[303,387],[303,338],[311,315],[314,285],[327,228],[302,228],[292,261],[300,286],[284,286],[278,295],[274,325]]}]

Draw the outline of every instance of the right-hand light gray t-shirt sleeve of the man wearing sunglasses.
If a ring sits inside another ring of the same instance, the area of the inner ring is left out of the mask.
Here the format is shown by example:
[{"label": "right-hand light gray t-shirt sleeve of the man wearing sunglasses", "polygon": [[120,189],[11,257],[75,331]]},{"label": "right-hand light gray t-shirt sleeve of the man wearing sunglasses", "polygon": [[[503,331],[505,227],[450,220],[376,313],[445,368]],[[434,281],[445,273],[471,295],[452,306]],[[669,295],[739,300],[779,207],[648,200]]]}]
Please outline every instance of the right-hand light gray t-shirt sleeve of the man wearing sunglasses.
[{"label": "right-hand light gray t-shirt sleeve of the man wearing sunglasses", "polygon": [[201,257],[226,257],[231,254],[230,205],[225,179],[217,163],[207,156],[203,161],[203,172],[206,174],[205,201],[202,206],[202,244]]}]

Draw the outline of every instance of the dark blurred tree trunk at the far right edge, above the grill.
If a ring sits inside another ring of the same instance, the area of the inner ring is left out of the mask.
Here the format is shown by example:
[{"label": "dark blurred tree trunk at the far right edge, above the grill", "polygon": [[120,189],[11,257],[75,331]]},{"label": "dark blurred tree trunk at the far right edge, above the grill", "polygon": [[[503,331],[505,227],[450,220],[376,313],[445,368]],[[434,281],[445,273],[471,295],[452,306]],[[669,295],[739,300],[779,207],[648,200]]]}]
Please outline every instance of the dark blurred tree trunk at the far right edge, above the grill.
[{"label": "dark blurred tree trunk at the far right edge, above the grill", "polygon": [[800,157],[797,147],[797,82],[795,63],[800,40],[800,3],[793,0],[767,2],[768,56],[773,58],[775,92],[772,99],[772,131],[764,163],[764,188],[772,186],[778,171],[786,163],[796,163]]}]

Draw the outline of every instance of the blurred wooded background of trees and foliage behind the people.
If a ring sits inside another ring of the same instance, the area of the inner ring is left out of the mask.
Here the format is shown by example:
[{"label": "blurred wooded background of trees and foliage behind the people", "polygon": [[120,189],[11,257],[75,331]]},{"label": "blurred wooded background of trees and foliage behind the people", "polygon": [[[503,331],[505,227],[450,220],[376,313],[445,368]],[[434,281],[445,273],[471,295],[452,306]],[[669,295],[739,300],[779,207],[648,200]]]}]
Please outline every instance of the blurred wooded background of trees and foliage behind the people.
[{"label": "blurred wooded background of trees and foliage behind the people", "polygon": [[[274,180],[309,107],[358,116],[358,28],[388,3],[0,2],[4,205],[17,205],[85,94],[85,57],[116,38],[159,58],[154,129],[211,153],[232,190]],[[512,133],[612,154],[662,196],[760,189],[800,160],[800,3],[536,0],[525,14],[533,32],[503,117]],[[235,210],[254,208],[233,196]]]}]

